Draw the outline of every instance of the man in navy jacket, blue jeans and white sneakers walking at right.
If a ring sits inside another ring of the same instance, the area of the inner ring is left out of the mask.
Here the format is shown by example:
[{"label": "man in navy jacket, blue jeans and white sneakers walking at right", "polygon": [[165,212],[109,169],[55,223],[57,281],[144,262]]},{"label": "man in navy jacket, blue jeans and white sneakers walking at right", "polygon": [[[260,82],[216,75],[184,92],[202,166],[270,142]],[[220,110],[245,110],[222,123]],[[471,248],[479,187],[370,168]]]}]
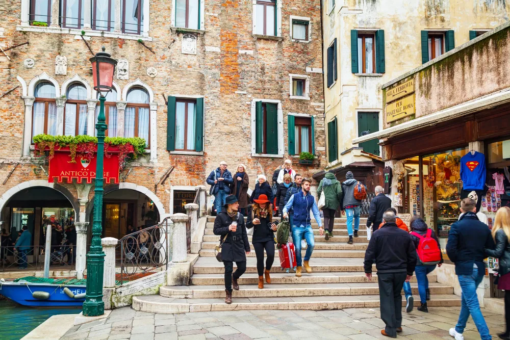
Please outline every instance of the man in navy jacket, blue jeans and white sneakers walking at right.
[{"label": "man in navy jacket, blue jeans and white sneakers walking at right", "polygon": [[446,252],[455,264],[455,274],[462,289],[462,307],[458,316],[457,324],[450,328],[450,335],[455,340],[463,340],[464,328],[469,315],[480,333],[482,340],[492,339],[489,328],[478,304],[476,287],[480,284],[485,274],[483,259],[486,257],[484,248],[493,249],[494,240],[491,230],[486,224],[476,217],[476,202],[471,198],[465,198],[461,202],[461,218],[453,223],[448,235]]}]

